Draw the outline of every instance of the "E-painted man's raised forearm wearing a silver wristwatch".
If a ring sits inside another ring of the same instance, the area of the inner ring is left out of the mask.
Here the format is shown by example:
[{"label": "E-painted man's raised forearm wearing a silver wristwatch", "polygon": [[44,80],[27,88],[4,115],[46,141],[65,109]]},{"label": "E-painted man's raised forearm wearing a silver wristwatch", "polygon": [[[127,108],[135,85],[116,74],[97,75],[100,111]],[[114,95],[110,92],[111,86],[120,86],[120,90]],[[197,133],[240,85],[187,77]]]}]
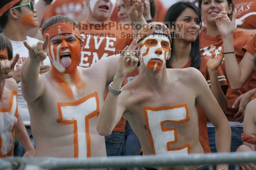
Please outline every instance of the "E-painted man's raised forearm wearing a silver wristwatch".
[{"label": "E-painted man's raised forearm wearing a silver wristwatch", "polygon": [[[124,78],[117,78],[115,76],[112,84],[113,88],[121,89],[123,81]],[[116,123],[119,121],[117,120],[117,103],[118,95],[114,95],[112,92],[109,92],[99,113],[97,131],[100,135],[110,135],[116,126]]]}]

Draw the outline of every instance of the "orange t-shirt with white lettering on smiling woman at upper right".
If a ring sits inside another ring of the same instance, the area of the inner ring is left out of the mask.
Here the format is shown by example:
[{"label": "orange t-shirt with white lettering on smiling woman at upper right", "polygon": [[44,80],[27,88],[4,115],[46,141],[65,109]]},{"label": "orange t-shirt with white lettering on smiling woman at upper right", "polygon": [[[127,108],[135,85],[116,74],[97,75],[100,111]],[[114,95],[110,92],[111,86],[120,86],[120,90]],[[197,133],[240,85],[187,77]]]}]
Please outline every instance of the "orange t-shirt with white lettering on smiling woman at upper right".
[{"label": "orange t-shirt with white lettering on smiling woman at upper right", "polygon": [[[244,57],[244,51],[242,51],[242,47],[246,45],[251,38],[252,34],[244,31],[239,31],[237,29],[234,30],[233,33],[233,41],[234,41],[234,49],[236,51],[236,59],[237,62],[240,63],[242,58]],[[217,35],[215,37],[208,36],[206,34],[206,29],[202,30],[200,32],[200,44],[202,49],[201,54],[211,56],[212,53],[219,54],[222,49],[223,41],[221,38],[221,35]],[[226,76],[226,70],[225,70],[225,58],[223,58],[223,62],[221,63],[222,71]],[[249,86],[250,81],[256,80],[256,73],[254,73],[251,77],[251,79],[239,90],[232,90],[230,87],[227,89],[227,110],[226,110],[226,116],[229,121],[235,121],[237,118],[234,117],[234,115],[238,112],[238,106],[236,108],[232,108],[232,105],[234,101],[239,97],[241,94],[244,94],[248,92],[248,90],[251,90],[256,87],[256,84],[253,84],[253,86]]]}]

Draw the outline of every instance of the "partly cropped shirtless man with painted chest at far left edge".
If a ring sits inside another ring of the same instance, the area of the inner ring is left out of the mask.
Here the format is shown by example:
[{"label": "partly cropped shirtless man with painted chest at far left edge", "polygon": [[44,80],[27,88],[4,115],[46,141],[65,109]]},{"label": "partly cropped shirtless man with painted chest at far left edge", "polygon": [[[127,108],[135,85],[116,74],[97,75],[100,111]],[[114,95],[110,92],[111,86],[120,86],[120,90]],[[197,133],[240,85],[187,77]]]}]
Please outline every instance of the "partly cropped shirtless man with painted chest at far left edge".
[{"label": "partly cropped shirtless man with painted chest at far left edge", "polygon": [[33,157],[35,148],[18,112],[18,86],[12,78],[19,55],[11,59],[11,42],[0,34],[0,158],[13,156],[14,137],[25,147],[24,157]]}]

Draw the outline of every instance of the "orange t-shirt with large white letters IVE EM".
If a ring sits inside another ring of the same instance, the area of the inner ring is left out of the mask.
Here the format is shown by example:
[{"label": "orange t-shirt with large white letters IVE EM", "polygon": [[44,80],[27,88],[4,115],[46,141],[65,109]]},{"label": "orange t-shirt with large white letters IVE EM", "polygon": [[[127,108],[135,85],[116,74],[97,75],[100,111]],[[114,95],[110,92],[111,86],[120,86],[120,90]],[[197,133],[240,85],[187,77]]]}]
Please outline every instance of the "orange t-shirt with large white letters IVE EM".
[{"label": "orange t-shirt with large white letters IVE EM", "polygon": [[[80,26],[79,31],[86,35],[79,63],[82,67],[90,67],[101,58],[121,53],[133,40],[133,38],[127,38],[127,35],[133,34],[132,28],[124,27],[116,22],[103,25],[82,22]],[[113,131],[125,132],[125,122],[126,120],[122,117]]]}]

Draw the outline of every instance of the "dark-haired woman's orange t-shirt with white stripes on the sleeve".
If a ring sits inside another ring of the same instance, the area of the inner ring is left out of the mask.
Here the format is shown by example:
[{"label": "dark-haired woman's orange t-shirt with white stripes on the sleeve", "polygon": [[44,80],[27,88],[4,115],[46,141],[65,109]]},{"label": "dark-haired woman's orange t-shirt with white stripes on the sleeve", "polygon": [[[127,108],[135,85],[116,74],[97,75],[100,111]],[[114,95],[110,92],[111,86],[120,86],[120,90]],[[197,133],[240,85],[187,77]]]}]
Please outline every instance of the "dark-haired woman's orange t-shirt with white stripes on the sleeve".
[{"label": "dark-haired woman's orange t-shirt with white stripes on the sleeve", "polygon": [[[207,83],[209,86],[211,86],[211,80],[210,80],[210,75],[208,73],[208,68],[206,66],[206,63],[210,59],[208,56],[201,57],[201,65],[199,68],[199,71],[203,74],[204,78],[206,79]],[[191,60],[184,66],[184,68],[188,68],[191,66]],[[171,68],[173,68],[171,66]],[[218,67],[217,69],[218,72],[218,79],[219,79],[219,84],[222,86],[222,89],[227,89],[227,81],[226,78],[222,72],[221,67]],[[208,139],[208,131],[207,131],[207,116],[203,112],[203,109],[198,105],[198,126],[199,126],[199,141],[204,149],[204,152],[211,152],[210,145],[209,145],[209,139]]]}]

